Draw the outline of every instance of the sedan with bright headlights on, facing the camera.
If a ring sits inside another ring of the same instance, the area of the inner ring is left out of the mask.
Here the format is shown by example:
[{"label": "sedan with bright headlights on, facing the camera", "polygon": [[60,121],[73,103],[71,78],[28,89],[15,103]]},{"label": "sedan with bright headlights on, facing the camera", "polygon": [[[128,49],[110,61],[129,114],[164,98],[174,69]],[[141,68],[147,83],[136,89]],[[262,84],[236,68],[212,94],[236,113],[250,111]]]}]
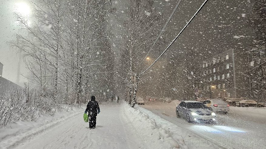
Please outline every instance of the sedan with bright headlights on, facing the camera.
[{"label": "sedan with bright headlights on, facing the camera", "polygon": [[215,122],[216,114],[199,101],[182,101],[176,107],[177,117],[187,122]]}]

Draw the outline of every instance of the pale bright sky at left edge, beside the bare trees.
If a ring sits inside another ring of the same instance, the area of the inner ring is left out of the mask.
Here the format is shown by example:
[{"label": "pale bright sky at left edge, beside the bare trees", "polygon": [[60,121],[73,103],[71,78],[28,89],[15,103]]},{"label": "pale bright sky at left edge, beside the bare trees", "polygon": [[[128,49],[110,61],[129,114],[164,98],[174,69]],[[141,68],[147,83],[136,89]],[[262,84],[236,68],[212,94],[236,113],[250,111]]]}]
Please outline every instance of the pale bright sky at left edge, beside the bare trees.
[{"label": "pale bright sky at left edge, beside the bare trees", "polygon": [[[18,32],[14,23],[14,6],[18,0],[0,0],[0,62],[4,64],[3,77],[16,83],[19,53],[8,45],[8,41],[12,40],[14,34]],[[20,62],[20,73],[25,74],[27,70],[23,62]],[[23,76],[19,75],[19,82],[26,81]]]}]

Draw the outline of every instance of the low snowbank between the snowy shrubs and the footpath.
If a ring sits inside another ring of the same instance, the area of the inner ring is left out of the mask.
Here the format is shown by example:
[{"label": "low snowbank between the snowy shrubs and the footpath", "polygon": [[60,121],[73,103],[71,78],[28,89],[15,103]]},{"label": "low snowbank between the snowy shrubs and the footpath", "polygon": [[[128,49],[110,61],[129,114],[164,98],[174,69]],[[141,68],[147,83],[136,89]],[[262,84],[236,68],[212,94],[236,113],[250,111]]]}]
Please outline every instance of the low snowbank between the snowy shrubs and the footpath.
[{"label": "low snowbank between the snowy shrubs and the footpath", "polygon": [[0,127],[0,148],[12,148],[13,145],[59,125],[67,121],[68,118],[82,115],[80,114],[81,111],[84,111],[84,108],[73,108],[70,111],[56,112],[53,116],[49,114],[40,115],[37,121],[16,121],[5,127],[2,125]]}]

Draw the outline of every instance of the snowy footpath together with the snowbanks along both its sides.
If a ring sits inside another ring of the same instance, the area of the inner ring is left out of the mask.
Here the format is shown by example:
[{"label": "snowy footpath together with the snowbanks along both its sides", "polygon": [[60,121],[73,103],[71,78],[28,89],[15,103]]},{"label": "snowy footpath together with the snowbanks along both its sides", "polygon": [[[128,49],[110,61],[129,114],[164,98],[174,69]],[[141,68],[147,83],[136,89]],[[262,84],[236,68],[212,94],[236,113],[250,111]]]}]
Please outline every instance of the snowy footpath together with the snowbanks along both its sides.
[{"label": "snowy footpath together with the snowbanks along both its sides", "polygon": [[126,103],[100,105],[95,129],[83,121],[85,107],[14,122],[0,129],[0,148],[212,149],[215,145],[152,112]]}]

